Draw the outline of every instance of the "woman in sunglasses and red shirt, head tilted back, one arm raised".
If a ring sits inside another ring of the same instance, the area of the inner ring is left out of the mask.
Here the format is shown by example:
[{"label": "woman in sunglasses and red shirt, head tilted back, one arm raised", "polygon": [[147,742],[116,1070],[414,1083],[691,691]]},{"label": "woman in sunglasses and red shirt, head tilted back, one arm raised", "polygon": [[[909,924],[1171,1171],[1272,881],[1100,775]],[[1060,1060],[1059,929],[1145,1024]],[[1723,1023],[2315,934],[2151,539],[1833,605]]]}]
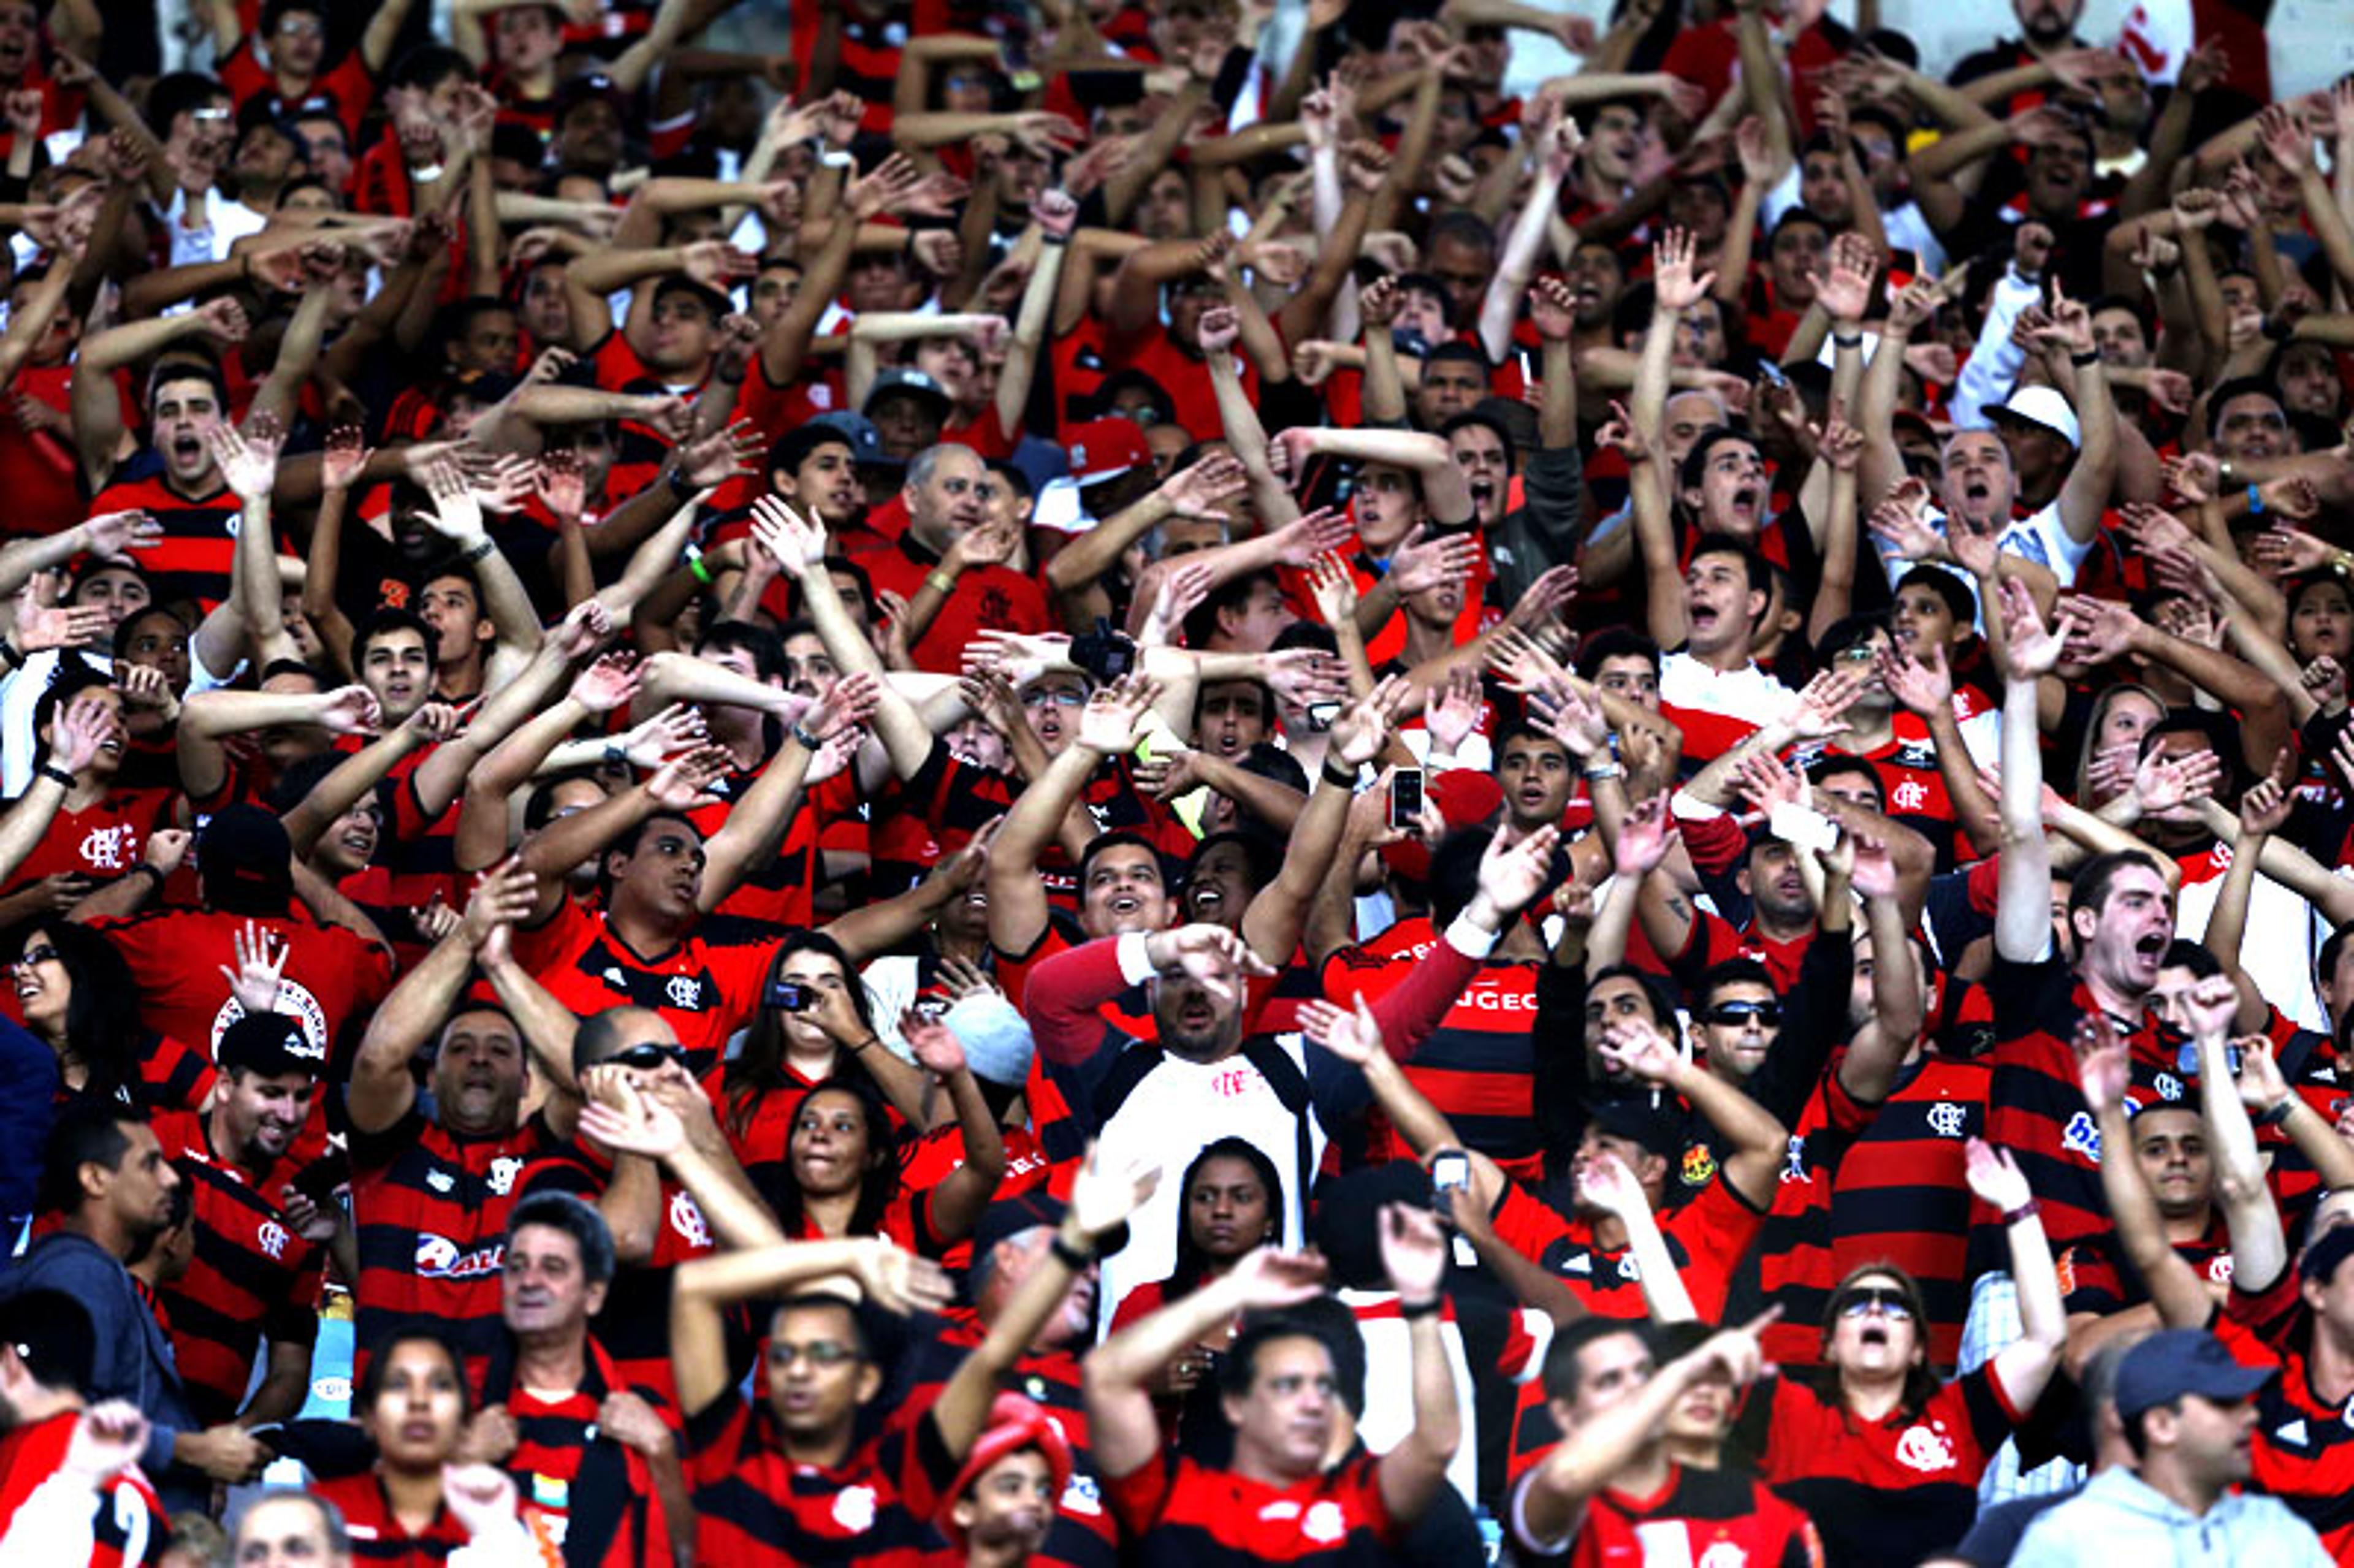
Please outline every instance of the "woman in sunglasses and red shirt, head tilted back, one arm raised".
[{"label": "woman in sunglasses and red shirt, head tilted back, one arm raised", "polygon": [[2043,1398],[2067,1316],[2043,1220],[2008,1151],[1968,1144],[1970,1191],[2001,1217],[2020,1290],[2020,1337],[1984,1366],[1940,1380],[1921,1285],[1895,1264],[1838,1283],[1822,1323],[1822,1380],[1763,1380],[1766,1481],[1808,1511],[1834,1568],[1919,1563],[1951,1549],[1977,1514],[1977,1479]]}]

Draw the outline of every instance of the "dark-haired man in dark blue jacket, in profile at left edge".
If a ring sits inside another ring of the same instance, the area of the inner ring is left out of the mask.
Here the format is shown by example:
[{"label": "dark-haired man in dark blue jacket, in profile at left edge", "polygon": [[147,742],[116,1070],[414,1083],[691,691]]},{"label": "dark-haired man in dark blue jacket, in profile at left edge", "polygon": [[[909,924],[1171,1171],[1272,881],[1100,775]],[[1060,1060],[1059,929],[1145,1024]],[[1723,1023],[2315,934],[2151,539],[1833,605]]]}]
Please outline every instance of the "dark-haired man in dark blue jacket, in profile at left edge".
[{"label": "dark-haired man in dark blue jacket, in profile at left edge", "polygon": [[94,1356],[82,1391],[132,1403],[148,1420],[139,1464],[172,1507],[202,1507],[207,1476],[242,1481],[268,1453],[240,1427],[207,1431],[195,1422],[172,1340],[125,1267],[169,1227],[179,1182],[139,1111],[99,1102],[59,1116],[40,1208],[64,1220],[0,1274],[0,1302],[59,1290],[89,1311]]}]

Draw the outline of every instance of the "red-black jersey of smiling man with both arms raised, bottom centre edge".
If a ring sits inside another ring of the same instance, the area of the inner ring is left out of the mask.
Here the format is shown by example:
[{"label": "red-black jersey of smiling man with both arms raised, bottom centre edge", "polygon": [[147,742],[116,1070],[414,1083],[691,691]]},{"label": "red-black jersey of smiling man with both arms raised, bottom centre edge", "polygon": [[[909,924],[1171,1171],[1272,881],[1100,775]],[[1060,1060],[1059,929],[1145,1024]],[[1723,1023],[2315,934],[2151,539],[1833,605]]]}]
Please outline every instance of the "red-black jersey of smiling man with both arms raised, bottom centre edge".
[{"label": "red-black jersey of smiling man with both arms raised, bottom centre edge", "polygon": [[1391,1547],[1403,1540],[1370,1453],[1274,1486],[1163,1450],[1111,1481],[1109,1495],[1137,1568],[1375,1568],[1396,1561]]}]

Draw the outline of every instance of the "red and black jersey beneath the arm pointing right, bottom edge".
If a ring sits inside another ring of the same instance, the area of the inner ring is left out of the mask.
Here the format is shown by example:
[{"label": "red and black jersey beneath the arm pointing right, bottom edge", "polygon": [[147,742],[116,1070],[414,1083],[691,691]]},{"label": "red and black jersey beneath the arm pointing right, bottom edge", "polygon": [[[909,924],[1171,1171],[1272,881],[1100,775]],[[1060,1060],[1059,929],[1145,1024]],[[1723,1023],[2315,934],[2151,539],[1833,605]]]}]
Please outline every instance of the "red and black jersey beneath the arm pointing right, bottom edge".
[{"label": "red and black jersey beneath the arm pointing right, bottom edge", "polygon": [[1822,1540],[1813,1521],[1740,1469],[1669,1464],[1667,1481],[1648,1497],[1603,1488],[1587,1502],[1577,1530],[1558,1542],[1530,1537],[1516,1488],[1507,1530],[1523,1563],[1822,1568]]}]

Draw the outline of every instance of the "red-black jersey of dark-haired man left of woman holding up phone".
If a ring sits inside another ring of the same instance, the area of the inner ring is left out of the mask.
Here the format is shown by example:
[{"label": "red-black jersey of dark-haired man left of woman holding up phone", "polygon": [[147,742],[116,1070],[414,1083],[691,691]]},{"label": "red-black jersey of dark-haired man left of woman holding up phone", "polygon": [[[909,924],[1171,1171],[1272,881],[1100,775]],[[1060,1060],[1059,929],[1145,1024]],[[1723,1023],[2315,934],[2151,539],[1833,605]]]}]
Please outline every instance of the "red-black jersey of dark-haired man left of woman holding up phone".
[{"label": "red-black jersey of dark-haired man left of woman holding up phone", "polygon": [[727,1036],[760,1010],[774,942],[716,946],[687,932],[666,954],[640,956],[603,911],[565,899],[546,925],[516,932],[516,961],[581,1017],[636,1005],[659,1012],[687,1048],[697,1078],[720,1062]]}]

